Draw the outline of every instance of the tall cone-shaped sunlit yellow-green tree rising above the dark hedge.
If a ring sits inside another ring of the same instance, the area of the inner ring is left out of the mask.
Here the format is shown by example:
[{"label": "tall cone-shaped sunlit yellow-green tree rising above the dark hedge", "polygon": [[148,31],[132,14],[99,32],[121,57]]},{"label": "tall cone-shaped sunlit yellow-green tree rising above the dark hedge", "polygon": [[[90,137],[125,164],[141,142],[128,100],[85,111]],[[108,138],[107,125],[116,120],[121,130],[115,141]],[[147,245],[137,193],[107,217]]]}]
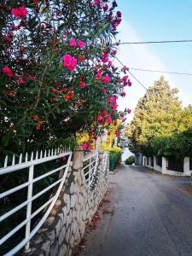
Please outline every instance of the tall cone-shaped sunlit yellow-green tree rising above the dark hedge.
[{"label": "tall cone-shaped sunlit yellow-green tree rising above the dark hedge", "polygon": [[177,97],[177,89],[171,89],[164,77],[150,86],[137,103],[134,118],[127,125],[132,152],[154,154],[151,143],[157,137],[171,137],[186,129],[183,125],[183,108]]}]

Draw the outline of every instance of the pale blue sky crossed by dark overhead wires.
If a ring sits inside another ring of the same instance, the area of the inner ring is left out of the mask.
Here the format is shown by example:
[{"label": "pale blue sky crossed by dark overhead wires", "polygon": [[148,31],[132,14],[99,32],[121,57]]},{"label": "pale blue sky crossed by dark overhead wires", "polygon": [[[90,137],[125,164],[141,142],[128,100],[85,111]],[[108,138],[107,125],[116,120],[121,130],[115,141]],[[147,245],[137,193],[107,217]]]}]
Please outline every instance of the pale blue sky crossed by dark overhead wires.
[{"label": "pale blue sky crossed by dark overhead wires", "polygon": [[[117,0],[122,11],[119,26],[121,42],[192,39],[192,1]],[[192,43],[122,45],[119,58],[128,67],[192,73]],[[160,78],[160,73],[131,71],[148,87]],[[177,87],[183,105],[192,103],[192,76],[164,75],[171,87]],[[131,79],[119,108],[136,107],[145,90]],[[129,119],[131,119],[132,115]]]}]

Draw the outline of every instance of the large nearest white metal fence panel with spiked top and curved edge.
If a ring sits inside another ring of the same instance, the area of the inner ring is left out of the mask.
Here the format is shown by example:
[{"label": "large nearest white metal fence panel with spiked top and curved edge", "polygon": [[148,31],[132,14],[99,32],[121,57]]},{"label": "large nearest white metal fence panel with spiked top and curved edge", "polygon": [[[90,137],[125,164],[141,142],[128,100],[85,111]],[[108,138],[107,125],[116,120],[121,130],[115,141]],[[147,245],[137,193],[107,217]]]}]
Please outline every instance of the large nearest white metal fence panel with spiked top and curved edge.
[{"label": "large nearest white metal fence panel with spiked top and curved edge", "polygon": [[[30,156],[30,160],[28,159],[28,154],[25,156],[25,160],[23,160],[22,154],[20,154],[20,157],[18,159],[18,163],[16,163],[16,157],[15,155],[12,158],[12,162],[9,165],[8,164],[8,157],[6,157],[4,161],[4,167],[0,168],[0,180],[1,176],[4,174],[9,174],[11,172],[18,172],[20,170],[23,170],[23,172],[28,172],[28,180],[25,183],[21,183],[20,185],[16,186],[15,188],[9,189],[7,191],[3,191],[3,193],[0,194],[0,200],[7,198],[9,195],[12,195],[13,193],[19,191],[20,189],[27,189],[27,199],[26,201],[22,202],[20,205],[14,207],[13,209],[9,210],[8,212],[3,213],[2,216],[0,216],[0,224],[3,224],[3,220],[9,218],[12,216],[15,212],[20,211],[23,207],[26,207],[26,219],[22,221],[20,224],[17,224],[13,230],[10,230],[5,236],[0,238],[0,247],[5,242],[8,241],[8,239],[15,235],[15,233],[25,227],[25,237],[22,241],[20,241],[15,247],[13,247],[8,253],[5,253],[4,255],[10,256],[14,255],[22,247],[25,247],[26,251],[30,250],[30,240],[32,236],[34,236],[37,231],[40,229],[42,224],[44,224],[44,220],[49,216],[49,212],[52,210],[52,208],[55,205],[55,201],[57,200],[58,196],[60,195],[61,188],[63,186],[63,183],[65,182],[65,179],[67,177],[67,172],[70,166],[72,157],[72,152],[65,152],[61,148],[57,148],[55,150],[49,150],[48,152],[45,151],[44,153],[41,151],[40,154],[38,152],[36,153],[36,156],[34,157],[33,153]],[[34,167],[38,166],[40,164],[47,163],[52,160],[58,160],[58,159],[66,158],[65,164],[61,164],[60,167],[51,170],[49,172],[44,173],[43,175],[40,175],[38,177],[34,177],[35,170]],[[90,157],[92,158],[92,156]],[[97,157],[96,157],[97,160]],[[27,169],[26,169],[27,168]],[[24,170],[25,169],[25,170]],[[89,170],[92,170],[91,168]],[[58,179],[51,183],[49,186],[47,186],[45,189],[42,189],[40,192],[38,192],[36,195],[33,195],[33,185],[34,183],[37,183],[40,180],[43,180],[45,177],[49,177],[50,175],[54,173],[58,173]],[[60,174],[60,175],[59,175]],[[89,175],[89,179],[91,179],[91,175]],[[89,181],[90,182],[90,181]],[[32,212],[32,202],[35,201],[38,197],[41,195],[44,195],[47,191],[50,189],[54,189],[55,186],[58,186],[56,191],[54,192],[54,195],[51,195],[48,201],[44,202],[43,205],[38,207],[38,209],[35,210],[35,212]],[[42,212],[44,210],[44,215],[38,220],[38,224],[36,224],[34,227],[31,226],[32,218],[38,215],[39,212]],[[2,255],[2,254],[1,254]]]}]

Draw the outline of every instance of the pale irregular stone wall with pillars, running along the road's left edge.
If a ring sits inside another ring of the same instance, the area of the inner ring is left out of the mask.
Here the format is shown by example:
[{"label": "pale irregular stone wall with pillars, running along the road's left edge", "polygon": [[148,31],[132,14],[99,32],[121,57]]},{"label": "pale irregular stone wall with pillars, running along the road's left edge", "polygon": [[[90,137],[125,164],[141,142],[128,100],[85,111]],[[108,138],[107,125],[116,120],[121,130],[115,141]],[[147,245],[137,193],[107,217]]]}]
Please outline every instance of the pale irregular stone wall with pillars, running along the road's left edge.
[{"label": "pale irregular stone wall with pillars, running along the road's left edge", "polygon": [[[82,170],[83,151],[73,154],[73,164],[61,195],[43,227],[31,242],[32,256],[70,256],[84,236],[87,224],[108,189],[108,161],[103,167],[103,152],[99,153],[98,168],[90,188]],[[107,155],[108,158],[108,155]]]}]

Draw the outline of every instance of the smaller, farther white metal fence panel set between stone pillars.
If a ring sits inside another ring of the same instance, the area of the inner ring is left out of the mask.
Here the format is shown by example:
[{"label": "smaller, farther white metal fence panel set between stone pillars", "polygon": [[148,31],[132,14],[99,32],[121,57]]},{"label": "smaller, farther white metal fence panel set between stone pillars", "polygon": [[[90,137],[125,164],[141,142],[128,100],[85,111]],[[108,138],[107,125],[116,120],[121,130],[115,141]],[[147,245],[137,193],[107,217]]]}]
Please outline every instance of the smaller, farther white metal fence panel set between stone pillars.
[{"label": "smaller, farther white metal fence panel set between stone pillars", "polygon": [[93,181],[94,174],[96,173],[98,157],[99,155],[96,151],[85,156],[83,160],[84,177],[89,187]]}]

